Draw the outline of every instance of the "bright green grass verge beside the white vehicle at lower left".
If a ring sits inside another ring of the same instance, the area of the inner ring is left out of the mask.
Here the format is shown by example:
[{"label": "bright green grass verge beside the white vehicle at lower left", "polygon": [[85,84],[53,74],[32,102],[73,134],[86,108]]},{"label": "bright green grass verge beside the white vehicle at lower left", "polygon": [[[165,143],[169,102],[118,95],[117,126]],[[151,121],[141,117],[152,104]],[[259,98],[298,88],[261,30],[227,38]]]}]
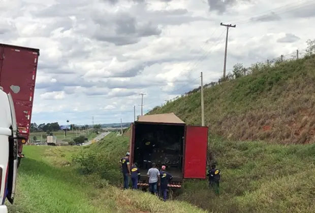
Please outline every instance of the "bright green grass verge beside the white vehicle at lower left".
[{"label": "bright green grass verge beside the white vehicle at lower left", "polygon": [[80,175],[71,159],[83,149],[25,146],[16,200],[8,204],[9,212],[206,212],[184,202],[164,203],[148,193],[122,191],[96,173]]}]

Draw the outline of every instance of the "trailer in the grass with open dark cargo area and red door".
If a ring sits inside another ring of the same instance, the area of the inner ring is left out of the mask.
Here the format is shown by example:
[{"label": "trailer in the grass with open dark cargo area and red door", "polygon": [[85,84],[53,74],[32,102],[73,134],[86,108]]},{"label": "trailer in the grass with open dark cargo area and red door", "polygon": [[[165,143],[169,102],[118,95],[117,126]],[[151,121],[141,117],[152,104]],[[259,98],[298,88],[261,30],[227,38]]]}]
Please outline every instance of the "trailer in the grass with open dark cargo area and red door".
[{"label": "trailer in the grass with open dark cargo area and red door", "polygon": [[[148,141],[150,153],[144,148]],[[158,167],[166,165],[173,175],[168,186],[178,189],[183,179],[206,178],[207,149],[208,127],[186,125],[173,113],[140,116],[131,124],[130,162],[140,167],[140,187],[148,187],[144,155]]]}]

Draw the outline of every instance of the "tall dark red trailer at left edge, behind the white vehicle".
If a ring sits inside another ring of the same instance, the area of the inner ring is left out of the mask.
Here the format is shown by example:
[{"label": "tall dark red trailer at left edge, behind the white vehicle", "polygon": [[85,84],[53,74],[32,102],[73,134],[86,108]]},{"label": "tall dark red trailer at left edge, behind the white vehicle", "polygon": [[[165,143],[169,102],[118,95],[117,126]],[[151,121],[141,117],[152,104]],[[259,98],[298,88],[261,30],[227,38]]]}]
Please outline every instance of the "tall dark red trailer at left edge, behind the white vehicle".
[{"label": "tall dark red trailer at left edge, behind the white vehicle", "polygon": [[38,57],[39,49],[0,44],[0,86],[14,101],[19,162],[29,137]]}]

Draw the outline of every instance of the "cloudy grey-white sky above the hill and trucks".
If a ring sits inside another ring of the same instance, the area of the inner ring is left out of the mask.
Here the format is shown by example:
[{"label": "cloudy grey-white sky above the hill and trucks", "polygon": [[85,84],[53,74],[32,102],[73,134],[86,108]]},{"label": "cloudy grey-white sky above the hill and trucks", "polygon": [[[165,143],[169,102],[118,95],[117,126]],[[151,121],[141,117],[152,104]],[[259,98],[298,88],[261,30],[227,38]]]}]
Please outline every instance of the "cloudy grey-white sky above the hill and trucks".
[{"label": "cloudy grey-white sky above the hill and trucks", "polygon": [[315,1],[0,0],[0,42],[40,49],[32,122],[133,121],[227,69],[314,39]]}]

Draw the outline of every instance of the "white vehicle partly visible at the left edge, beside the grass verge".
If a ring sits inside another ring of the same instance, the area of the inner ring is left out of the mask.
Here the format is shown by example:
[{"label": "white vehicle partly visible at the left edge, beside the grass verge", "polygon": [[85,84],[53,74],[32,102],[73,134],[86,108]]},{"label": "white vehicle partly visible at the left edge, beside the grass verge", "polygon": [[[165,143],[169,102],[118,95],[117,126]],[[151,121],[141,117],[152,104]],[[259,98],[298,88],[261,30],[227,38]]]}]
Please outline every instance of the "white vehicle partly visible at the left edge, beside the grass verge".
[{"label": "white vehicle partly visible at the left edge, beside the grass verge", "polygon": [[6,198],[14,201],[18,167],[18,130],[11,94],[0,87],[0,213],[7,213]]}]

